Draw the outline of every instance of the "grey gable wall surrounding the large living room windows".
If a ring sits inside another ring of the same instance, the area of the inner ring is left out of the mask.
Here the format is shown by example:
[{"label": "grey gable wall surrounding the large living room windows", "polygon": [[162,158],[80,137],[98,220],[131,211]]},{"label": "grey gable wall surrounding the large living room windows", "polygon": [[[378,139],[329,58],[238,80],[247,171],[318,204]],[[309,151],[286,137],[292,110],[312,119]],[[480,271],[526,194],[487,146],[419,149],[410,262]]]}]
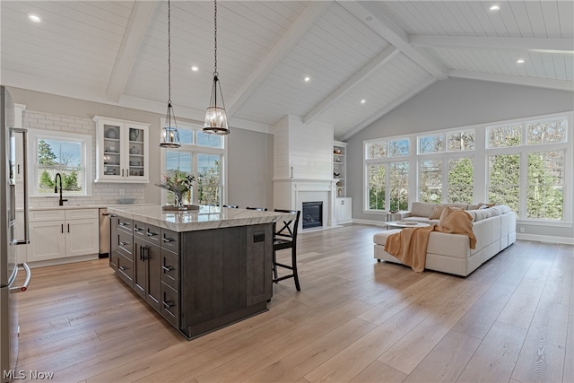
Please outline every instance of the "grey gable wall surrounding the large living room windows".
[{"label": "grey gable wall surrounding the large living room windows", "polygon": [[[381,214],[363,213],[362,210],[364,140],[527,118],[572,109],[574,92],[570,91],[466,79],[448,79],[433,84],[347,140],[347,196],[352,196],[353,220],[382,221]],[[571,227],[529,226],[528,230],[534,236],[572,236]]]}]

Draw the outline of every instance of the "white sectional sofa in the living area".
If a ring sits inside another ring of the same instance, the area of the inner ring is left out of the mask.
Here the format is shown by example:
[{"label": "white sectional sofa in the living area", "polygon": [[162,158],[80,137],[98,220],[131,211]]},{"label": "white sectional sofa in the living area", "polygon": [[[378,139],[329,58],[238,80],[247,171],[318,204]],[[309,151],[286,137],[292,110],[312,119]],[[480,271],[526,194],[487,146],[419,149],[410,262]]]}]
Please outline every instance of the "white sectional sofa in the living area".
[{"label": "white sectional sofa in the living area", "polygon": [[[515,212],[510,210],[509,206],[495,205],[489,208],[472,209],[477,206],[446,205],[462,207],[465,210],[471,208],[467,212],[473,219],[476,248],[470,248],[470,241],[466,235],[432,231],[427,247],[426,269],[466,276],[516,241],[517,216]],[[438,224],[439,219],[430,218],[435,206],[434,204],[413,202],[411,210],[401,212],[400,216],[405,221]],[[382,231],[374,235],[375,258],[401,263],[396,257],[385,251],[388,235],[398,231],[400,230]]]}]

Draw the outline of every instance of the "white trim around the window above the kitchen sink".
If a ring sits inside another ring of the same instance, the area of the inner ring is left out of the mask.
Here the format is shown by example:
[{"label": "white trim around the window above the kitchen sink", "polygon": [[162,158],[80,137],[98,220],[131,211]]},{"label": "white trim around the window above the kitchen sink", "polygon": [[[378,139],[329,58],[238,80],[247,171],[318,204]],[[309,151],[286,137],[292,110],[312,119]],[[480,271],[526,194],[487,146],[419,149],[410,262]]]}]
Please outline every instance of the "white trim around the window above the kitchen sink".
[{"label": "white trim around the window above the kitchen sink", "polygon": [[[80,142],[82,143],[82,154],[83,154],[83,164],[84,164],[84,178],[83,178],[83,193],[82,194],[66,194],[65,190],[63,190],[63,196],[70,196],[70,197],[85,197],[85,196],[92,196],[92,184],[93,184],[93,151],[92,151],[92,141],[93,136],[91,135],[83,135],[80,133],[70,133],[70,132],[61,132],[61,131],[54,131],[54,130],[43,130],[43,129],[29,129],[28,130],[28,143],[29,143],[29,151],[28,151],[28,163],[29,168],[33,170],[33,174],[30,174],[30,197],[42,197],[46,198],[49,195],[38,194],[38,174],[36,168],[36,159],[38,157],[38,145],[36,142],[39,138],[46,137],[58,141],[72,141],[72,142]],[[56,196],[56,194],[55,194]]]}]

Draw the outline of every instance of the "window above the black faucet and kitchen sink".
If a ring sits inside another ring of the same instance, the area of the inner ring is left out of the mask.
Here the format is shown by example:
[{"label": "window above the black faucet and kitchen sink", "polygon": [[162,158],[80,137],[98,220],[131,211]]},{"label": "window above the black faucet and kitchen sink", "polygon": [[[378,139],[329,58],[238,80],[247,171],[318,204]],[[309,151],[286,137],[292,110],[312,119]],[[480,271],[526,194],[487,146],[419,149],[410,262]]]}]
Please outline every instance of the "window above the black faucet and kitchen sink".
[{"label": "window above the black faucet and kitchen sink", "polygon": [[91,195],[91,136],[30,130],[32,196],[54,196],[56,175],[65,196]]}]

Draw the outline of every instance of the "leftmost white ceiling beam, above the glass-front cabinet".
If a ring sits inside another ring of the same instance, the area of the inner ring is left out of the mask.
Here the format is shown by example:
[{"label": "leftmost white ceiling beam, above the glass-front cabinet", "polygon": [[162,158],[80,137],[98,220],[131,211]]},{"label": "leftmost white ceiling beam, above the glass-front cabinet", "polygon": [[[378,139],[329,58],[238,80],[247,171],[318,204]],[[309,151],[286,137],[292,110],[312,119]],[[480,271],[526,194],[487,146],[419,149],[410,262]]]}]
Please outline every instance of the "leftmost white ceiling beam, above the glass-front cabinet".
[{"label": "leftmost white ceiling beam, above the glass-front cabinet", "polygon": [[135,57],[142,45],[145,31],[158,4],[161,3],[154,1],[134,2],[122,45],[117,52],[116,64],[109,76],[108,88],[106,89],[108,100],[118,102],[124,92],[129,74],[135,63]]}]

